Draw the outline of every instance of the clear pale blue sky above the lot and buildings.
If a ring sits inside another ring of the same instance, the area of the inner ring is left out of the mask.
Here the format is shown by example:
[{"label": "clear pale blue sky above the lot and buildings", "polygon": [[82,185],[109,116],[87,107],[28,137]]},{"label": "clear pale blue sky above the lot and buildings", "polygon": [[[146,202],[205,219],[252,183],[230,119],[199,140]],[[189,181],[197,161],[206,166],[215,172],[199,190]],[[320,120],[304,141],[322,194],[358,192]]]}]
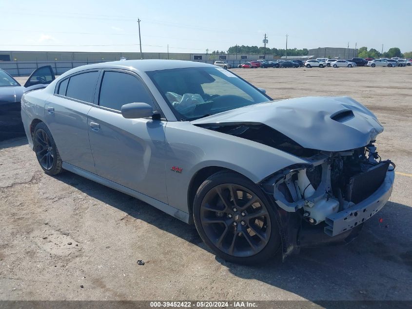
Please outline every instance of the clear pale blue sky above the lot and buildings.
[{"label": "clear pale blue sky above the lot and buildings", "polygon": [[412,0],[0,0],[0,50],[205,53],[235,44],[412,51]]}]

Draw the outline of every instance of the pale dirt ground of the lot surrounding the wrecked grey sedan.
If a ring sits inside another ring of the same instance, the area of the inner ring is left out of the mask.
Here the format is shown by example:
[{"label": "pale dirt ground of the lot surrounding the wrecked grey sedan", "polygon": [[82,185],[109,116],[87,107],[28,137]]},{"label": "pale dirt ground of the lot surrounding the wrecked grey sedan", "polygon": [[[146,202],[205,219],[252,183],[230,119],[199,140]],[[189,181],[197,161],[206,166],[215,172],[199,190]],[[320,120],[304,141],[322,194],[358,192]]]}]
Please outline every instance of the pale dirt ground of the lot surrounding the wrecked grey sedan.
[{"label": "pale dirt ground of the lot surrounding the wrecked grey sedan", "polygon": [[195,227],[70,172],[47,176],[14,139],[0,143],[0,299],[412,300],[412,67],[233,71],[274,99],[348,95],[376,113],[397,175],[353,243],[226,263]]}]

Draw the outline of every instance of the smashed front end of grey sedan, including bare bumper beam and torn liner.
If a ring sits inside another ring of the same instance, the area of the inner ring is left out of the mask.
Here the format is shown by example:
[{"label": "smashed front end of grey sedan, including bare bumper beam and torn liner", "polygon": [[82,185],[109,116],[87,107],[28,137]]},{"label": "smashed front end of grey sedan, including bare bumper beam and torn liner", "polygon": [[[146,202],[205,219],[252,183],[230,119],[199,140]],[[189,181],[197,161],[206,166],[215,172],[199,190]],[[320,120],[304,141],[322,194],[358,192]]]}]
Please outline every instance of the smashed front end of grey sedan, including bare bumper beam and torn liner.
[{"label": "smashed front end of grey sedan, including bare bumper beam and torn liner", "polygon": [[348,243],[363,222],[389,200],[394,164],[382,161],[374,141],[347,151],[319,151],[259,185],[280,214],[283,256],[302,247]]}]

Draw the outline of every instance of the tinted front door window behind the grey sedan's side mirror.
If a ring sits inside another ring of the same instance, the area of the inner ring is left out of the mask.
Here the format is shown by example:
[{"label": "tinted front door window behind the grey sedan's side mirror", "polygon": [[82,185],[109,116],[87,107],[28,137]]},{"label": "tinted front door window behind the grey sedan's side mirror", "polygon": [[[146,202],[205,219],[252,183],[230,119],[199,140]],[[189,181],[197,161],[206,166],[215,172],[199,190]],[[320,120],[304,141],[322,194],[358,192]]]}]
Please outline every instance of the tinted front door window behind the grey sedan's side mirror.
[{"label": "tinted front door window behind the grey sedan's side mirror", "polygon": [[143,84],[133,75],[120,72],[105,72],[101,83],[99,105],[120,110],[127,103],[153,101]]}]

